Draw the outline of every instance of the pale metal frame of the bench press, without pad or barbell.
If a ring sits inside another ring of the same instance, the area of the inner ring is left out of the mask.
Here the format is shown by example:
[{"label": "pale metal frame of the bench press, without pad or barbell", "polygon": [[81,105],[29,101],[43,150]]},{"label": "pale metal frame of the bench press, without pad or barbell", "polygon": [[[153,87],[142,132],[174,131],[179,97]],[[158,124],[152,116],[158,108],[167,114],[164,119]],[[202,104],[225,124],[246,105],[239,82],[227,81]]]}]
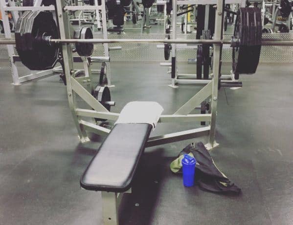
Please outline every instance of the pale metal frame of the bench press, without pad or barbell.
[{"label": "pale metal frame of the bench press, without pad or barbell", "polygon": [[[57,20],[60,26],[60,38],[70,39],[70,24],[68,13],[63,10],[66,6],[65,0],[57,0]],[[206,3],[206,2],[205,2]],[[215,3],[212,1],[211,3]],[[176,2],[175,2],[176,4]],[[215,20],[215,35],[216,40],[221,39],[221,33],[223,30],[223,0],[217,0],[217,11]],[[102,7],[105,7],[105,0],[102,0]],[[191,130],[184,130],[176,133],[164,134],[157,137],[149,138],[147,142],[147,147],[156,146],[159,144],[173,143],[181,140],[194,139],[200,136],[207,135],[208,143],[206,147],[208,149],[218,145],[215,142],[215,125],[216,125],[216,114],[217,114],[217,102],[218,102],[218,75],[219,75],[219,65],[220,65],[220,54],[221,54],[221,44],[213,44],[214,57],[213,57],[213,77],[197,94],[195,94],[191,99],[185,102],[174,114],[171,115],[161,115],[159,118],[159,123],[168,122],[196,122],[205,121],[209,122],[209,125],[195,128]],[[175,49],[175,48],[174,48]],[[70,44],[63,43],[62,51],[64,56],[64,66],[65,75],[67,79],[67,93],[70,111],[73,116],[73,121],[78,131],[78,136],[82,143],[90,141],[87,136],[87,131],[96,133],[99,135],[107,135],[110,133],[110,129],[103,126],[97,125],[96,123],[88,122],[84,117],[88,118],[101,118],[116,121],[119,117],[119,113],[109,112],[100,102],[98,102],[92,95],[93,82],[91,78],[90,63],[87,64],[87,70],[83,77],[76,77],[78,70],[74,69],[72,49]],[[174,54],[175,52],[173,52]],[[92,110],[79,108],[77,106],[77,96],[90,105]],[[190,114],[191,111],[196,108],[201,102],[211,98],[211,113],[210,114]],[[117,197],[120,194],[113,192],[102,192],[102,202],[103,202],[103,217],[104,223],[107,225],[118,225],[118,201]],[[109,220],[111,218],[111,220]]]}]

